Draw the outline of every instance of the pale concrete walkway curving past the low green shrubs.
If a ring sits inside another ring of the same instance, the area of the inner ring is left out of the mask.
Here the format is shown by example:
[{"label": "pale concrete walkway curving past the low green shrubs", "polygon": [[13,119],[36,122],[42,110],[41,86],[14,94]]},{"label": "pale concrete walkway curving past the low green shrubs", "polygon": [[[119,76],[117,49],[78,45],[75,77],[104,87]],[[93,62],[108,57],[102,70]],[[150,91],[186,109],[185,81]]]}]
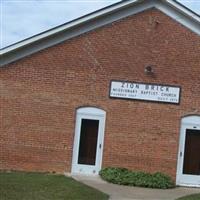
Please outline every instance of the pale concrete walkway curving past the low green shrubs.
[{"label": "pale concrete walkway curving past the low green shrubs", "polygon": [[[200,193],[199,188],[149,189],[107,183],[98,176],[73,176],[76,180],[110,195],[111,200],[176,200],[179,197]],[[183,199],[187,200],[187,199]],[[191,199],[188,199],[191,200]],[[193,200],[193,199],[192,199]],[[196,200],[196,199],[194,199]]]}]

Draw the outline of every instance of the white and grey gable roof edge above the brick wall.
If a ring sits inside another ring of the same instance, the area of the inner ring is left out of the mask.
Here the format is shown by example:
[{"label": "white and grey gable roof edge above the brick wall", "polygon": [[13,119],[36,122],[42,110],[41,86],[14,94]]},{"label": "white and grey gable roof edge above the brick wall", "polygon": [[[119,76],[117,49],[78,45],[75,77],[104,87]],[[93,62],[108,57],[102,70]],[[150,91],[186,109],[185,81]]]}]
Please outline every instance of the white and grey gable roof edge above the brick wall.
[{"label": "white and grey gable roof edge above the brick wall", "polygon": [[200,35],[200,16],[175,0],[123,0],[1,49],[0,67],[150,8],[162,11]]}]

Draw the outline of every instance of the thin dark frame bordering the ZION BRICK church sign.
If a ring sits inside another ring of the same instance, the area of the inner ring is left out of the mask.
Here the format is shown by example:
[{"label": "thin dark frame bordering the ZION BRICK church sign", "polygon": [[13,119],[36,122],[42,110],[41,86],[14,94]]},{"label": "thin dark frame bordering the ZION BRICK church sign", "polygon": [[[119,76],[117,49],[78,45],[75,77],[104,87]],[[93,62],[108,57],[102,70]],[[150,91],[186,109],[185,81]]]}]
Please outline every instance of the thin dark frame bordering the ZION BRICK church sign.
[{"label": "thin dark frame bordering the ZION BRICK church sign", "polygon": [[[127,98],[127,97],[113,97],[111,96],[111,87],[112,82],[121,82],[121,83],[133,83],[133,84],[142,84],[142,85],[151,85],[151,86],[163,86],[163,87],[172,87],[172,88],[179,88],[179,97],[178,102],[169,102],[169,101],[159,101],[159,100],[148,100],[148,99],[138,99],[138,98]],[[128,81],[128,80],[116,80],[111,79],[110,80],[110,86],[109,86],[109,98],[110,99],[121,99],[121,100],[130,100],[130,101],[143,101],[143,102],[149,102],[149,103],[161,103],[161,104],[172,104],[172,105],[180,105],[181,103],[181,92],[182,88],[179,85],[171,85],[171,84],[159,84],[159,83],[146,83],[146,82],[137,82],[137,81]]]}]

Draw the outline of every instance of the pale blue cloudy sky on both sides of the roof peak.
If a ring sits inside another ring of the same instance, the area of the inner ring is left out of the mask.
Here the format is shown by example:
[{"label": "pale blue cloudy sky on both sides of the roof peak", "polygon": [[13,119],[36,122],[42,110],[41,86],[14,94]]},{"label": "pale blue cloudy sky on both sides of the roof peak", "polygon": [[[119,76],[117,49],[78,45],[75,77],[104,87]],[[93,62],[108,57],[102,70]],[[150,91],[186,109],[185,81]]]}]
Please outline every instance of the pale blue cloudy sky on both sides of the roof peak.
[{"label": "pale blue cloudy sky on both sides of the roof peak", "polygon": [[[0,0],[1,41],[6,47],[120,0]],[[200,0],[179,0],[200,14]]]}]

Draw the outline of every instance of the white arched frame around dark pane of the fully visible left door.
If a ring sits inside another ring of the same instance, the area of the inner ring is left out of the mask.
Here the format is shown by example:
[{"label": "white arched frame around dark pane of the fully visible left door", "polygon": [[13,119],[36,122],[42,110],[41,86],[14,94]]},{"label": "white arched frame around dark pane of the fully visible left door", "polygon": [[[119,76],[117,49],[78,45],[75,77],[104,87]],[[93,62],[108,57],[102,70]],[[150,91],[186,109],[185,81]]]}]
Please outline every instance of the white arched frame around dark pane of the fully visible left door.
[{"label": "white arched frame around dark pane of the fully visible left door", "polygon": [[[99,120],[95,165],[78,164],[82,119]],[[72,174],[98,175],[102,165],[105,120],[106,120],[106,112],[102,109],[94,107],[84,107],[77,109],[73,156],[72,156],[72,169],[71,169]]]}]

